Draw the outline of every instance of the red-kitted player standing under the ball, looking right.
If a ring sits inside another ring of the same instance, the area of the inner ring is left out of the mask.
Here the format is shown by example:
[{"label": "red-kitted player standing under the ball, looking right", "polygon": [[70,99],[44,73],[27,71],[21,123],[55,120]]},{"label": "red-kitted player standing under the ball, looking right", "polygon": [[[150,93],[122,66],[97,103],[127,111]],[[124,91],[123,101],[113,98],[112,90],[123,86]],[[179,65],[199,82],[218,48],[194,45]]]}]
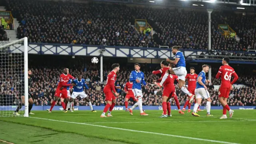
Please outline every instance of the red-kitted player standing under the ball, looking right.
[{"label": "red-kitted player standing under the ball, looking right", "polygon": [[[105,113],[108,111],[108,117],[112,116],[111,112],[116,104],[116,96],[118,96],[119,94],[116,92],[116,88],[120,89],[120,86],[115,86],[115,82],[116,82],[116,73],[119,71],[119,64],[112,64],[112,71],[108,74],[107,77],[107,83],[106,86],[103,89],[103,92],[106,96],[106,101],[107,104],[101,114],[101,118],[106,118]],[[114,92],[114,94],[112,93],[112,91]]]}]

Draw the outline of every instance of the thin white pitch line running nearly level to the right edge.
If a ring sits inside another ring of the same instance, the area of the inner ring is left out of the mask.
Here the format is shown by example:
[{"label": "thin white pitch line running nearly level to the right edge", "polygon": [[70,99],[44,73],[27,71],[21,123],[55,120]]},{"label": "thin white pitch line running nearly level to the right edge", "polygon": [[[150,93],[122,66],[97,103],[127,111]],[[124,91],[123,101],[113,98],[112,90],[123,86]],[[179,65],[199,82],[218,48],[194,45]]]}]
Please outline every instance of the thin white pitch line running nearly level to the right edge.
[{"label": "thin white pitch line running nearly level to the right edge", "polygon": [[122,123],[178,123],[178,122],[255,122],[255,120],[208,120],[208,121],[164,121],[164,122],[84,122],[83,124],[122,124]]}]

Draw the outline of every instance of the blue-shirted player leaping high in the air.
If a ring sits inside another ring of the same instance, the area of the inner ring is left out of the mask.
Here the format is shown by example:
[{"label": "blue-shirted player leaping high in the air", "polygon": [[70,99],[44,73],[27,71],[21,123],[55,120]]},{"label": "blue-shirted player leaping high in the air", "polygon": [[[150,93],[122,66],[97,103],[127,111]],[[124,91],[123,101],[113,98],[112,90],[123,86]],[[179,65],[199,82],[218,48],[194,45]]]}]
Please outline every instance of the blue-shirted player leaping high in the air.
[{"label": "blue-shirted player leaping high in the air", "polygon": [[164,84],[164,81],[168,78],[169,74],[177,75],[179,88],[182,90],[182,92],[190,96],[190,103],[191,103],[193,101],[194,94],[191,94],[188,91],[188,89],[184,86],[185,77],[187,75],[186,62],[185,62],[185,57],[183,53],[180,52],[179,49],[180,49],[180,46],[172,47],[172,54],[176,56],[175,60],[170,60],[169,58],[166,59],[166,61],[169,62],[170,64],[176,65],[176,68],[170,67],[169,70],[166,70],[166,73],[164,74],[162,81],[160,83],[157,83],[157,85],[162,87],[162,85]]}]

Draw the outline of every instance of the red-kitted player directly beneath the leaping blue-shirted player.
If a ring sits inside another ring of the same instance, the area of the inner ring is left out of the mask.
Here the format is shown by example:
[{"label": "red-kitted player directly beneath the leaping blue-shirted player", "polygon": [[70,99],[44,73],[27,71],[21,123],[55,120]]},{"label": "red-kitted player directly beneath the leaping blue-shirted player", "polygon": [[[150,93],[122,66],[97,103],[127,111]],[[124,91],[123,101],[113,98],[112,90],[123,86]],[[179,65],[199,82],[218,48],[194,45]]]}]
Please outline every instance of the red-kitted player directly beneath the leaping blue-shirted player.
[{"label": "red-kitted player directly beneath the leaping blue-shirted player", "polygon": [[[166,70],[169,70],[168,62],[163,60],[161,62],[161,69],[152,72],[153,74],[161,74],[161,78],[159,80],[157,80],[158,82],[161,82],[162,77],[164,76]],[[163,108],[164,113],[162,114],[162,116],[160,116],[160,118],[166,118],[168,116],[171,116],[170,111],[169,111],[170,110],[169,100],[170,100],[171,97],[173,97],[174,94],[176,95],[174,80],[178,80],[178,76],[170,74],[168,76],[168,78],[163,83],[164,90],[163,90],[163,95],[162,95],[162,108]],[[155,81],[155,84],[156,84],[156,81]],[[156,84],[156,85],[158,86],[158,84]],[[184,114],[184,112],[182,112],[180,110],[180,102],[178,101],[177,96],[174,97],[174,100],[175,100],[176,105],[178,107],[179,113]],[[168,104],[167,104],[167,102],[168,102]],[[166,110],[168,110],[168,115],[166,114]]]}]

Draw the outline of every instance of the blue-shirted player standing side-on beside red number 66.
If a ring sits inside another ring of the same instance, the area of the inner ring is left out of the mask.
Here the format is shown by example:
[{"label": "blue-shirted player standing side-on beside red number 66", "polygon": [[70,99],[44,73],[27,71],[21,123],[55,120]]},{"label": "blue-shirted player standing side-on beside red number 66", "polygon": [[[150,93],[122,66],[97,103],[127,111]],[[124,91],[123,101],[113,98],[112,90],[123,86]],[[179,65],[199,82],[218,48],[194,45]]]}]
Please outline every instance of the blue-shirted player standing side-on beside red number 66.
[{"label": "blue-shirted player standing side-on beside red number 66", "polygon": [[205,76],[205,74],[209,71],[209,66],[203,65],[202,69],[203,69],[202,72],[198,74],[198,77],[196,80],[196,90],[195,90],[196,104],[194,105],[192,115],[199,116],[199,114],[196,113],[196,110],[198,106],[201,104],[202,98],[204,98],[207,101],[206,102],[207,116],[212,116],[210,114],[212,100],[206,87],[206,85],[210,82],[210,80],[206,80],[206,76]]}]

